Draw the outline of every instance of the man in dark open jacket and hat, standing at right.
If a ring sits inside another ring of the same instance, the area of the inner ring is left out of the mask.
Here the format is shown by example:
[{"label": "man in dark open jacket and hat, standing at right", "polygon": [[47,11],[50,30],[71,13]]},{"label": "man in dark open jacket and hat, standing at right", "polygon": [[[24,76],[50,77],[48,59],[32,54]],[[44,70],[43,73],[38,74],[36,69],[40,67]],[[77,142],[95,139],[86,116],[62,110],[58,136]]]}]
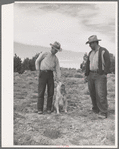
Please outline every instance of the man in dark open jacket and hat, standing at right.
[{"label": "man in dark open jacket and hat, standing at right", "polygon": [[88,88],[92,100],[92,110],[99,118],[107,118],[107,74],[110,68],[110,55],[107,49],[101,47],[96,35],[88,38],[86,44],[92,49],[86,62],[85,76],[88,78]]}]

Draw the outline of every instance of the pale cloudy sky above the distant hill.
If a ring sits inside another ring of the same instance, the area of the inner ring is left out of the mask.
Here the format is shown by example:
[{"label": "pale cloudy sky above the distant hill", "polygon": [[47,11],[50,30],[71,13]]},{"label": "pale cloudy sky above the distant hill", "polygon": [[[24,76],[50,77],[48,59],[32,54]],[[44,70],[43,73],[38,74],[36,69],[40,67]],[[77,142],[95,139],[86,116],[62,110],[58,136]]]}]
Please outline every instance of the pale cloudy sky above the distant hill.
[{"label": "pale cloudy sky above the distant hill", "polygon": [[115,54],[117,2],[16,2],[14,41],[49,47],[60,42],[62,49],[89,52],[89,36]]}]

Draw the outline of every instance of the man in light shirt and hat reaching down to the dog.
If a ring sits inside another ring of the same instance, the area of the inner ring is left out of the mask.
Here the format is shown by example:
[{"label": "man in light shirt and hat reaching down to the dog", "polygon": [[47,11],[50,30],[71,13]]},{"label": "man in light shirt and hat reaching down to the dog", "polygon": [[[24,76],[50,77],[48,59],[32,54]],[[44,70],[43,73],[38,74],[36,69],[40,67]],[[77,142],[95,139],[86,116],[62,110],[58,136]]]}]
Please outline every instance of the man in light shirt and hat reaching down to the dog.
[{"label": "man in light shirt and hat reaching down to the dog", "polygon": [[44,93],[47,85],[47,113],[51,113],[52,100],[54,95],[54,75],[56,81],[59,82],[61,79],[61,71],[59,66],[59,60],[56,56],[58,51],[61,51],[61,45],[58,42],[54,42],[51,45],[50,52],[43,52],[36,59],[35,66],[36,70],[39,71],[39,82],[38,82],[38,114],[43,113],[44,105]]}]

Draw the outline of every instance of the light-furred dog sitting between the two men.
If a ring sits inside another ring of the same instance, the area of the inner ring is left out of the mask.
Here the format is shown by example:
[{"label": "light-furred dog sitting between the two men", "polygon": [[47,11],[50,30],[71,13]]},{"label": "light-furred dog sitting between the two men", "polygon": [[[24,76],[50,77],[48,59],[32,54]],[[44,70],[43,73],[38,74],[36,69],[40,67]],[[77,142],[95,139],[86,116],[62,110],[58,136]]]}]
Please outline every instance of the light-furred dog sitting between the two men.
[{"label": "light-furred dog sitting between the two men", "polygon": [[53,98],[53,111],[56,110],[56,113],[59,114],[61,108],[64,112],[67,112],[67,98],[65,85],[62,82],[59,82],[56,87],[56,96]]}]

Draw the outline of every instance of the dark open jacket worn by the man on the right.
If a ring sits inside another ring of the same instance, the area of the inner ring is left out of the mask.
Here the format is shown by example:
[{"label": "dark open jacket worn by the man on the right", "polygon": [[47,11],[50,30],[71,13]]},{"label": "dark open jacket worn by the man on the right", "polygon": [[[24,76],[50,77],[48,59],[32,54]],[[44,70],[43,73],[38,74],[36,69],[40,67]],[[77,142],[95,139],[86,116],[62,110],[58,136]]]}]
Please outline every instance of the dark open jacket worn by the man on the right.
[{"label": "dark open jacket worn by the man on the right", "polygon": [[[102,51],[104,51],[103,54],[103,58],[104,58],[104,70],[102,70]],[[87,62],[86,62],[86,71],[85,71],[85,76],[88,76],[90,73],[90,54],[91,54],[92,50],[89,52],[88,58],[87,58]],[[98,54],[98,74],[103,75],[103,74],[108,74],[109,73],[109,69],[110,69],[110,54],[108,52],[107,49],[100,47],[99,48],[99,54]]]}]

